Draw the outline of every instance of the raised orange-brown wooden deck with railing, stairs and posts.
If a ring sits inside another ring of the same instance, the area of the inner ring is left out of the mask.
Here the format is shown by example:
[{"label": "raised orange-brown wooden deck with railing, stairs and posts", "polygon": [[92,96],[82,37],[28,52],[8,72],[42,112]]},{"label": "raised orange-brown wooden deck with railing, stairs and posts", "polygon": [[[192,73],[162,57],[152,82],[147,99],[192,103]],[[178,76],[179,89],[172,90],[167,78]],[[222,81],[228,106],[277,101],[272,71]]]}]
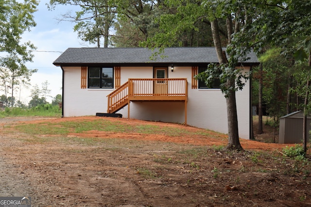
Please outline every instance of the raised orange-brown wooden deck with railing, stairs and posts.
[{"label": "raised orange-brown wooden deck with railing, stairs and posts", "polygon": [[185,102],[185,124],[187,124],[187,79],[129,79],[108,96],[108,113],[115,113],[128,105],[130,117],[131,101],[183,101]]}]

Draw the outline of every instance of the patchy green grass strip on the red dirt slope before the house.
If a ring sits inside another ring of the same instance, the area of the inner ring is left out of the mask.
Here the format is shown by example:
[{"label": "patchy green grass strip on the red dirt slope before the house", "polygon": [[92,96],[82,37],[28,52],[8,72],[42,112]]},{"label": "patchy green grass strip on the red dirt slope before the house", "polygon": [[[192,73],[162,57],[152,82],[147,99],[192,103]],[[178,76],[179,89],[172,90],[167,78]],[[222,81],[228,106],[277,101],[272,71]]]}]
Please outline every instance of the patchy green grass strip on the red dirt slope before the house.
[{"label": "patchy green grass strip on the red dirt slope before the house", "polygon": [[35,124],[23,123],[15,126],[21,132],[38,135],[67,135],[69,133],[83,133],[86,131],[108,131],[123,133],[161,134],[171,137],[201,135],[219,137],[219,133],[199,129],[197,131],[187,130],[179,127],[159,127],[156,125],[131,125],[118,121],[95,120],[95,121],[63,121],[63,122],[38,122]]}]

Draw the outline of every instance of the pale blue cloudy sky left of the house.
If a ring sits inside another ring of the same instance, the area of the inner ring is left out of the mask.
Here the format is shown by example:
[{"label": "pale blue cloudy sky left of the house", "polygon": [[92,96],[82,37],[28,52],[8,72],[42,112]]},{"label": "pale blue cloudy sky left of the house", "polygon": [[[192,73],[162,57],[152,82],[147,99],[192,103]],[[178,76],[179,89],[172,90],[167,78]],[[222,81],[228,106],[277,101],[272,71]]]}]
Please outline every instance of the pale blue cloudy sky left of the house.
[{"label": "pale blue cloudy sky left of the house", "polygon": [[[62,14],[73,12],[74,8],[70,6],[58,5],[55,10],[49,11],[46,3],[49,0],[41,0],[37,12],[34,13],[36,27],[31,28],[31,32],[25,32],[22,35],[23,42],[30,41],[35,45],[37,51],[34,51],[34,59],[32,63],[27,63],[29,69],[38,69],[32,75],[31,86],[29,89],[22,88],[20,101],[28,105],[31,98],[31,89],[38,85],[42,88],[42,83],[48,81],[48,89],[51,90],[51,96],[62,94],[62,69],[53,65],[61,52],[67,48],[94,47],[89,45],[73,32],[74,23],[61,21],[59,19]],[[19,99],[19,92],[15,92],[15,97]],[[51,103],[52,98],[47,98]]]}]

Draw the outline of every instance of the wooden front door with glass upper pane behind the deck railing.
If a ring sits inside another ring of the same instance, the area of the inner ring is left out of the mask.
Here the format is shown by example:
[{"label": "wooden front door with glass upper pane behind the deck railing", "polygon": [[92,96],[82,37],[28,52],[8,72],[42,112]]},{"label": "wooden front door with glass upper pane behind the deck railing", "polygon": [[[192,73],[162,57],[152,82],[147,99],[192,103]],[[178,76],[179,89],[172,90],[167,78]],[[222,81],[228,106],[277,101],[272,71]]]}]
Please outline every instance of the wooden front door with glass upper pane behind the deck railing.
[{"label": "wooden front door with glass upper pane behind the deck railing", "polygon": [[[168,68],[167,67],[155,67],[154,77],[156,79],[167,79]],[[168,93],[167,80],[155,80],[155,94],[167,94]]]}]

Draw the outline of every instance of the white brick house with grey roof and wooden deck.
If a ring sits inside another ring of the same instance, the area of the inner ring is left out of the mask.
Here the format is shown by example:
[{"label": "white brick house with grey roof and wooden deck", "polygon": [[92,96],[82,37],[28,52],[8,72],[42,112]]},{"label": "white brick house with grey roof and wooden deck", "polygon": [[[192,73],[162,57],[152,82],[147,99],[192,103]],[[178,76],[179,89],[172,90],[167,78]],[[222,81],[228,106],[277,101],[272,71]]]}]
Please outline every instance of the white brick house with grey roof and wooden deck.
[{"label": "white brick house with grey roof and wooden deck", "polygon": [[[150,60],[148,48],[68,48],[53,64],[63,70],[64,117],[122,114],[148,121],[186,123],[227,133],[225,97],[193,78],[218,63],[215,48],[166,48]],[[237,65],[250,71],[255,54]],[[239,134],[251,135],[251,81],[237,92]]]}]

